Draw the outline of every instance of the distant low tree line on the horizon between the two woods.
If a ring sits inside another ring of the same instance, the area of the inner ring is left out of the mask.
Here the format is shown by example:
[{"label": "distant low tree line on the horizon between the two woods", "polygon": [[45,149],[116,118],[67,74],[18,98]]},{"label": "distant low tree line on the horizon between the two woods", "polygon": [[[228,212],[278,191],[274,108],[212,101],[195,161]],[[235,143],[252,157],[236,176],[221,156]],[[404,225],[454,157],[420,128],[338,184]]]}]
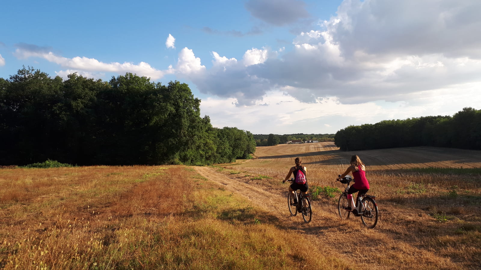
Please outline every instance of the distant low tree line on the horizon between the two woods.
[{"label": "distant low tree line on the horizon between the two woods", "polygon": [[288,141],[301,140],[301,141],[319,141],[319,142],[332,142],[334,141],[334,134],[254,134],[256,146],[275,146],[278,144],[286,144]]}]

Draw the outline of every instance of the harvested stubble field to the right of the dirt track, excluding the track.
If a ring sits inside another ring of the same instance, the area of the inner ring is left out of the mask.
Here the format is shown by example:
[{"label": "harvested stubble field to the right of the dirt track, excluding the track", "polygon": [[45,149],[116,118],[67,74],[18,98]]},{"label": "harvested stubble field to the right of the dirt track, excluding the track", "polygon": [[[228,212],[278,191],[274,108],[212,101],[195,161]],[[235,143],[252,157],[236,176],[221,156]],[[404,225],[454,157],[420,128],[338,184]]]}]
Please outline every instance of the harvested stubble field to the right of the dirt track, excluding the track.
[{"label": "harvested stubble field to the right of the dirt track, excluding the track", "polygon": [[[412,263],[409,269],[425,269],[418,258],[408,255],[426,253],[424,250],[436,250],[434,254],[423,255],[427,261],[439,261],[436,256],[463,261],[457,266],[439,262],[433,266],[436,269],[472,268],[481,263],[480,151],[409,147],[340,152],[332,143],[258,147],[257,150],[254,160],[224,167],[250,175],[270,176],[272,180],[266,188],[280,194],[285,194],[287,186],[279,183],[294,165],[295,157],[303,159],[312,191],[315,186],[342,190],[342,184],[335,183],[335,178],[349,166],[352,154],[359,155],[367,166],[369,194],[377,196],[380,207],[376,229],[383,232],[377,236],[378,240],[371,238],[372,233],[365,237],[367,241],[381,241],[383,245],[392,246],[392,250],[384,250],[383,255],[372,255],[391,265],[386,268],[396,269],[396,262],[404,261]],[[240,181],[252,183],[248,179]],[[338,196],[339,193],[334,198],[321,197],[313,207],[325,208],[327,203],[330,205],[328,211],[335,215]],[[324,213],[316,214],[325,217]],[[404,240],[394,241],[396,235],[403,235]],[[342,235],[331,239],[341,240]],[[364,256],[361,250],[354,248],[354,253]]]}]

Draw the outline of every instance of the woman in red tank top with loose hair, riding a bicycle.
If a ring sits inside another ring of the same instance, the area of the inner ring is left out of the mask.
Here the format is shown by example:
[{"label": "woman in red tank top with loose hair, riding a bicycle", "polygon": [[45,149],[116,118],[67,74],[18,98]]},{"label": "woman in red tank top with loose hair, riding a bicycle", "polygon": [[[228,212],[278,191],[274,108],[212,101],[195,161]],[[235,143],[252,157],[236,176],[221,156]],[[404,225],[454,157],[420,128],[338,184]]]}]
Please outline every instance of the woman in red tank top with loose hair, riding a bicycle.
[{"label": "woman in red tank top with loose hair, riding a bicycle", "polygon": [[351,166],[349,166],[346,172],[341,174],[341,176],[339,176],[336,181],[341,180],[349,172],[353,172],[355,183],[347,191],[347,202],[349,206],[345,208],[346,210],[352,210],[355,207],[353,193],[359,192],[357,194],[357,196],[359,196],[359,194],[364,194],[369,190],[369,182],[367,182],[366,178],[366,166],[364,166],[364,163],[362,163],[359,156],[352,155]]}]

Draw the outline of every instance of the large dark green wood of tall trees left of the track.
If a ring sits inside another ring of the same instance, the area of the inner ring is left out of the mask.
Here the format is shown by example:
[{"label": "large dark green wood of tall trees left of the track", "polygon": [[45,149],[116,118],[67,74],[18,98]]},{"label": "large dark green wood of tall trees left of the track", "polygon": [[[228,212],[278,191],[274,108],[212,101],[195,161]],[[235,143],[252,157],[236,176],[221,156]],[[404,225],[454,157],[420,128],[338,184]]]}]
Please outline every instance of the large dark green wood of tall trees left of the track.
[{"label": "large dark green wood of tall trees left of the track", "polygon": [[32,67],[0,78],[0,164],[201,165],[248,159],[253,135],[214,128],[187,84],[127,73],[67,80]]}]

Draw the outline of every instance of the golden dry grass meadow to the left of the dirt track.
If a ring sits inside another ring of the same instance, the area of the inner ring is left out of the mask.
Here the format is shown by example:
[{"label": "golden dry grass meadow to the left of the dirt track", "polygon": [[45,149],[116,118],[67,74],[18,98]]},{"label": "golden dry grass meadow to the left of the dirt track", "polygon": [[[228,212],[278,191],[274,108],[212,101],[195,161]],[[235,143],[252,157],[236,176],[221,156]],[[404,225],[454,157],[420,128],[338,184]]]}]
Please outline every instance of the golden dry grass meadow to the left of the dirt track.
[{"label": "golden dry grass meadow to the left of the dirt track", "polygon": [[5,169],[0,184],[2,269],[349,268],[184,166]]}]

